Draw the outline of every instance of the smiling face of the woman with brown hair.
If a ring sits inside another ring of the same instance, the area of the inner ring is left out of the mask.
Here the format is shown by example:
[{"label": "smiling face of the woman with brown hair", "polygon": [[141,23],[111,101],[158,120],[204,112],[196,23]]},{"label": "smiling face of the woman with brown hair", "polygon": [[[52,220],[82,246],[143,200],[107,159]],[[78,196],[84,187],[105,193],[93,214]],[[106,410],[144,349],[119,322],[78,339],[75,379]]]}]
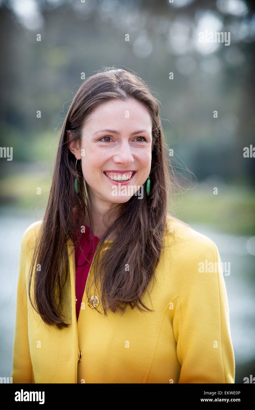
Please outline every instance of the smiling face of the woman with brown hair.
[{"label": "smiling face of the woman with brown hair", "polygon": [[151,170],[151,131],[149,111],[132,99],[106,101],[86,118],[74,155],[81,159],[90,198],[124,203],[135,193],[145,195],[139,188]]}]

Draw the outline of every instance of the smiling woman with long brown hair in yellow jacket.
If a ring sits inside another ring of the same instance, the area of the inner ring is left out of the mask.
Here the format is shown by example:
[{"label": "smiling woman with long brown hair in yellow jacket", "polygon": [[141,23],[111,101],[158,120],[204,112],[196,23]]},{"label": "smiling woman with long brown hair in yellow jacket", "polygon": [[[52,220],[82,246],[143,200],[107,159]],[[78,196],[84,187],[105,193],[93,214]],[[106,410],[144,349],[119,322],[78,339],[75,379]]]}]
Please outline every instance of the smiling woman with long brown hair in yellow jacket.
[{"label": "smiling woman with long brown hair in yellow jacket", "polygon": [[219,251],[167,213],[164,145],[142,80],[83,82],[22,238],[13,383],[235,383]]}]

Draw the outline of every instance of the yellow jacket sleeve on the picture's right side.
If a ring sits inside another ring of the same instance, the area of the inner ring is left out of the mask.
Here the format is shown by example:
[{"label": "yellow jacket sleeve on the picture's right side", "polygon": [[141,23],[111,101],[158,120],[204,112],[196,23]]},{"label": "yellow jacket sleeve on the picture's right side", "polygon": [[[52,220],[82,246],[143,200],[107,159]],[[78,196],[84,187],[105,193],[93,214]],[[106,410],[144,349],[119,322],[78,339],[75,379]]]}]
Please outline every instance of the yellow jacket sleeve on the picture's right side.
[{"label": "yellow jacket sleeve on the picture's right side", "polygon": [[178,383],[235,383],[221,258],[217,246],[207,239],[209,242],[193,249],[176,302],[173,329],[181,364]]}]

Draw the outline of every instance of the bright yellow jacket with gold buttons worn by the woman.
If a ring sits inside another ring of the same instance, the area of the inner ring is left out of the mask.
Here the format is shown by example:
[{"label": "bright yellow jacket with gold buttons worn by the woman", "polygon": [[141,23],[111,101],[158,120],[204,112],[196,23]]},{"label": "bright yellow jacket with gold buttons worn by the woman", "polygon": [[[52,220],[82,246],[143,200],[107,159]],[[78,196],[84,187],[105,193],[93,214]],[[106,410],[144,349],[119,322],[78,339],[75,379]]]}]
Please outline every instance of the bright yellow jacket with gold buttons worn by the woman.
[{"label": "bright yellow jacket with gold buttons worn by the woman", "polygon": [[[47,326],[29,303],[27,273],[41,221],[25,230],[13,383],[235,383],[219,251],[211,239],[181,221],[168,216],[167,224],[151,302],[147,293],[142,299],[154,312],[128,306],[122,317],[111,311],[105,317],[89,306],[84,292],[77,323],[74,252],[68,242],[70,276],[64,289],[71,325],[62,330]],[[215,262],[219,269],[208,269]],[[99,309],[100,296],[95,296]]]}]

